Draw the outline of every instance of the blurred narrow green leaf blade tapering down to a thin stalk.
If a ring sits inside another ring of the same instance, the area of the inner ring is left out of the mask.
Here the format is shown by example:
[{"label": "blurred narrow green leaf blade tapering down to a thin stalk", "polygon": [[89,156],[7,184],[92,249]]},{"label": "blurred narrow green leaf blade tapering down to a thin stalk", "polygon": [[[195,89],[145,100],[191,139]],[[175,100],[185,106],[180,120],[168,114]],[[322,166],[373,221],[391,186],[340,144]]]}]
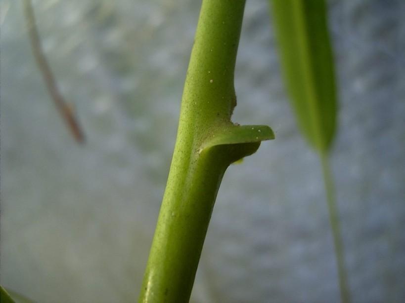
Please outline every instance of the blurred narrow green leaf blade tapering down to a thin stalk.
[{"label": "blurred narrow green leaf blade tapering down to a thin stalk", "polygon": [[279,54],[298,124],[326,152],[336,128],[336,89],[324,0],[271,0]]}]

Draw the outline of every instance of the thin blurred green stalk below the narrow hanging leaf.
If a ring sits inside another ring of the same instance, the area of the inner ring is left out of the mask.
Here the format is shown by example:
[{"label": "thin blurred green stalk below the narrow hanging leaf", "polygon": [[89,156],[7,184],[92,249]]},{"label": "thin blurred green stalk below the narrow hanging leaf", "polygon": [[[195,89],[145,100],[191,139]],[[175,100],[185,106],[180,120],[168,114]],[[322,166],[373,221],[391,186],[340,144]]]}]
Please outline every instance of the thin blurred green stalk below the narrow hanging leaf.
[{"label": "thin blurred green stalk below the narrow hanging leaf", "polygon": [[325,184],[326,200],[329,212],[329,222],[332,229],[333,245],[336,255],[341,301],[343,303],[350,303],[351,300],[345,265],[343,240],[340,230],[339,215],[335,199],[336,193],[327,154],[321,153],[320,160],[322,165],[323,180]]}]

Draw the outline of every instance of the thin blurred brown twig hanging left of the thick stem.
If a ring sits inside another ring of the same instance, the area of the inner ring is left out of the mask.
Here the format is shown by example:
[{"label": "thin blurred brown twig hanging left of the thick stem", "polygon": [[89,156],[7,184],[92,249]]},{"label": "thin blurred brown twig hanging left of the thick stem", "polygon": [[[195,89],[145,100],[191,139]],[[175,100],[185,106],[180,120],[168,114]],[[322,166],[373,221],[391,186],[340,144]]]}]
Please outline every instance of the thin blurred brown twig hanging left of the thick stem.
[{"label": "thin blurred brown twig hanging left of the thick stem", "polygon": [[31,0],[24,0],[24,12],[27,19],[28,35],[30,38],[32,51],[37,61],[38,68],[40,69],[42,76],[44,77],[48,92],[52,100],[54,101],[59,114],[65,120],[66,125],[70,129],[75,140],[78,143],[84,143],[85,136],[77,118],[75,117],[74,111],[66,103],[65,99],[60,94],[56,85],[55,77],[53,76],[49,64],[46,60],[44,51],[41,46],[41,39],[40,35],[38,34],[34,9],[32,7]]}]

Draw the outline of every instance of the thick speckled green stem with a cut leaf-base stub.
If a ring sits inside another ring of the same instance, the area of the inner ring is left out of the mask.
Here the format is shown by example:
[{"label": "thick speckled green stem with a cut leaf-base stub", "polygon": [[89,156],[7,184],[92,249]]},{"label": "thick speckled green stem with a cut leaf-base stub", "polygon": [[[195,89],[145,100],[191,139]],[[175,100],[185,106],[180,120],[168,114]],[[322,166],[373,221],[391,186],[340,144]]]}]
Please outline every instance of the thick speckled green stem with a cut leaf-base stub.
[{"label": "thick speckled green stem with a cut leaf-base stub", "polygon": [[245,0],[203,0],[181,101],[175,151],[139,302],[188,302],[227,166],[273,138],[234,126],[233,74]]}]

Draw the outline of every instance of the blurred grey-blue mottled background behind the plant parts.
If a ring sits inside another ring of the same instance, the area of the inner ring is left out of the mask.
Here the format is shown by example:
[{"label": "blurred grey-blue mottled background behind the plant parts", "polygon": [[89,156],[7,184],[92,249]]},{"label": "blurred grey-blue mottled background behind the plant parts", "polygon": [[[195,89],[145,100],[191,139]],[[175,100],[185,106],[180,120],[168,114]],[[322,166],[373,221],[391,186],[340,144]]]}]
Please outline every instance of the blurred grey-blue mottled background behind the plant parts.
[{"label": "blurred grey-blue mottled background behind the plant parts", "polygon": [[[22,1],[0,1],[1,284],[36,302],[135,302],[174,149],[201,1],[34,0],[87,143],[50,100]],[[405,302],[405,1],[331,0],[331,165],[353,302]],[[191,302],[338,302],[321,168],[280,78],[267,0],[249,0],[233,121],[268,124],[228,168]]]}]

